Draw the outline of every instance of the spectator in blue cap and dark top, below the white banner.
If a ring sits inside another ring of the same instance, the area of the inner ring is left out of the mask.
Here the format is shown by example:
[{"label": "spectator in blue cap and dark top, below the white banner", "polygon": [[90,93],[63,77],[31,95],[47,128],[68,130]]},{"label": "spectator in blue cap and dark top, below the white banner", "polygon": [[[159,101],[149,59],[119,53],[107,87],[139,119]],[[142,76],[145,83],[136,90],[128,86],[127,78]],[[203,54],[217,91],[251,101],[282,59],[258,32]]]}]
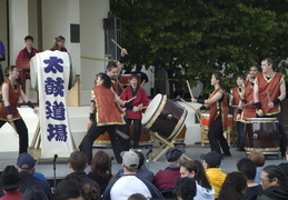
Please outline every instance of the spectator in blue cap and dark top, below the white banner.
[{"label": "spectator in blue cap and dark top, below the white banner", "polygon": [[52,192],[50,187],[46,182],[33,177],[34,163],[36,163],[36,160],[29,153],[21,153],[18,157],[16,168],[21,174],[27,176],[26,181],[22,183],[20,188],[20,192],[24,193],[27,188],[31,186],[38,186],[43,189],[48,199],[52,199]]}]

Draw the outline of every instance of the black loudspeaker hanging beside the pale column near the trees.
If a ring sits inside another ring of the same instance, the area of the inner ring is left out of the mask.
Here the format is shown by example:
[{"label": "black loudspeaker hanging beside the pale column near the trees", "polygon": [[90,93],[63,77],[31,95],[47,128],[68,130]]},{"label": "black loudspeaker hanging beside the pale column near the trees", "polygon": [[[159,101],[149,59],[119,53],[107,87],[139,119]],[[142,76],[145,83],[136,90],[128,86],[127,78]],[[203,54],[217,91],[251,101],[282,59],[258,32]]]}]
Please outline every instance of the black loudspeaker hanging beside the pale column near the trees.
[{"label": "black loudspeaker hanging beside the pale column near the trees", "polygon": [[105,18],[105,52],[111,54],[112,59],[118,60],[121,50],[111,41],[113,39],[121,46],[121,19],[119,18]]}]

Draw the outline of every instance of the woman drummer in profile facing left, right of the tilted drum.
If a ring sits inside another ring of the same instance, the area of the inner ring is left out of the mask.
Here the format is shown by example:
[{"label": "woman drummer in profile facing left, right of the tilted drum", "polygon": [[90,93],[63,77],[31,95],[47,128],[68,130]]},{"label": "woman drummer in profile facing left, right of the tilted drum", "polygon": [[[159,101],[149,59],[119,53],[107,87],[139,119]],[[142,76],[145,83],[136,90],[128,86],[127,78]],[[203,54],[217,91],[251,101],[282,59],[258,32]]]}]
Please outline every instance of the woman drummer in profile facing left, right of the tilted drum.
[{"label": "woman drummer in profile facing left, right of the tilted drum", "polygon": [[[221,149],[224,151],[224,157],[230,157],[230,148],[227,143],[227,140],[224,137],[224,130],[227,128],[228,121],[228,103],[227,103],[227,94],[224,90],[224,76],[221,72],[215,72],[211,76],[211,86],[213,86],[215,90],[210,94],[209,99],[195,99],[192,98],[192,102],[201,103],[200,110],[205,110],[207,108],[210,109],[210,117],[208,121],[209,131],[208,139],[210,143],[211,151],[217,151],[221,153]],[[220,146],[221,149],[220,149]]]}]

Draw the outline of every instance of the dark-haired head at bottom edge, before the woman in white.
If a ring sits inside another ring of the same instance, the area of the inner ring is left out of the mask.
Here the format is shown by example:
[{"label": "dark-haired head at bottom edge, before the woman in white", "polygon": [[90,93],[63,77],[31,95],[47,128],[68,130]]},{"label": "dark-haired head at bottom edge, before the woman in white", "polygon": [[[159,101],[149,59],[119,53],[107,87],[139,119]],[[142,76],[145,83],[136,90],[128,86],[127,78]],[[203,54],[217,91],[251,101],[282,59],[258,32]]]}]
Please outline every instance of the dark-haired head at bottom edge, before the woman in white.
[{"label": "dark-haired head at bottom edge, before the woman in white", "polygon": [[196,181],[192,178],[177,179],[173,193],[178,200],[191,200],[196,196]]}]

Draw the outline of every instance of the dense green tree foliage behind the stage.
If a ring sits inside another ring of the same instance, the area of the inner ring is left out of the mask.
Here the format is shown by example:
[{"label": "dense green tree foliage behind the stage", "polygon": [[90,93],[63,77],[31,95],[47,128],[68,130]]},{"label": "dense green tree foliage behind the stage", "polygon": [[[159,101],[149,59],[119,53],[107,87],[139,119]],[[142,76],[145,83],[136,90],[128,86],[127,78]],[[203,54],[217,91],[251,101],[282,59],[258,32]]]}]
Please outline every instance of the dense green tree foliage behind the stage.
[{"label": "dense green tree foliage behind the stage", "polygon": [[[122,22],[132,66],[165,67],[169,78],[200,80],[224,71],[226,84],[251,64],[272,58],[287,73],[287,0],[110,0],[109,17]],[[185,70],[185,76],[180,71]]]}]

